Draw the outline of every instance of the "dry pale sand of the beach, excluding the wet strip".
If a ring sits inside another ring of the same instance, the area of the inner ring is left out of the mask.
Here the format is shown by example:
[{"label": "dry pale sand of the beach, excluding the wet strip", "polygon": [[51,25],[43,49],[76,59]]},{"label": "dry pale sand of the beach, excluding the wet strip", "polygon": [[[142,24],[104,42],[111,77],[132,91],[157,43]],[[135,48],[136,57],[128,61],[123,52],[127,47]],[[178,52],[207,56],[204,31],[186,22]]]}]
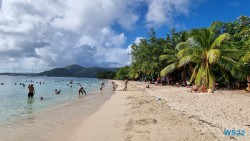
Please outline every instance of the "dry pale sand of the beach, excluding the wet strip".
[{"label": "dry pale sand of the beach, excluding the wet strip", "polygon": [[[83,121],[73,141],[249,140],[250,97],[240,91],[213,94],[187,92],[187,88],[129,82],[128,91],[115,94]],[[159,100],[160,99],[160,100]],[[225,129],[246,131],[229,137]]]}]

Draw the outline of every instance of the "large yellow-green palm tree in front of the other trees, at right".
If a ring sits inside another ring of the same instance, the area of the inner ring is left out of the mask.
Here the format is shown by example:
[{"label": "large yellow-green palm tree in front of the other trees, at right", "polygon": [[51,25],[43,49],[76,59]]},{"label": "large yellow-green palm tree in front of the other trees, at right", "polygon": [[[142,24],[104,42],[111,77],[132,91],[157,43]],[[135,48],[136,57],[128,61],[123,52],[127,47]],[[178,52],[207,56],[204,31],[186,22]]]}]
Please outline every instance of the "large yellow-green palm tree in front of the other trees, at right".
[{"label": "large yellow-green palm tree in front of the other trees, at right", "polygon": [[212,71],[215,65],[223,75],[230,72],[236,76],[239,65],[234,58],[239,51],[227,42],[229,37],[229,34],[224,33],[216,38],[212,30],[207,28],[193,29],[188,41],[178,44],[182,48],[177,54],[180,58],[178,67],[196,64],[190,82],[195,81],[198,86],[204,84],[212,89],[215,84]]}]

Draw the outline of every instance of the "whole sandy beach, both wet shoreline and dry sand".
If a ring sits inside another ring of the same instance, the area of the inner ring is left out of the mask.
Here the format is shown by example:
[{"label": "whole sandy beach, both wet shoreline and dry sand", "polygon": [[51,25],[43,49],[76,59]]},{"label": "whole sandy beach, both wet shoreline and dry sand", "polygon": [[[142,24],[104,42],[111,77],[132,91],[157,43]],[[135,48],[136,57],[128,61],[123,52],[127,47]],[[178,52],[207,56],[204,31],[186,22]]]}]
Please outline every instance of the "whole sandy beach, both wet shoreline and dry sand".
[{"label": "whole sandy beach, both wet shoreline and dry sand", "polygon": [[[103,94],[90,95],[50,112],[31,115],[2,132],[4,141],[151,141],[247,140],[250,96],[238,91],[190,93],[185,87],[111,82]],[[97,90],[98,92],[98,90]],[[48,114],[49,113],[49,114]],[[23,127],[24,130],[20,130]],[[242,130],[245,136],[225,136],[224,130]],[[16,133],[19,131],[19,133]],[[32,133],[32,134],[29,134]],[[11,134],[11,135],[10,135]]]}]

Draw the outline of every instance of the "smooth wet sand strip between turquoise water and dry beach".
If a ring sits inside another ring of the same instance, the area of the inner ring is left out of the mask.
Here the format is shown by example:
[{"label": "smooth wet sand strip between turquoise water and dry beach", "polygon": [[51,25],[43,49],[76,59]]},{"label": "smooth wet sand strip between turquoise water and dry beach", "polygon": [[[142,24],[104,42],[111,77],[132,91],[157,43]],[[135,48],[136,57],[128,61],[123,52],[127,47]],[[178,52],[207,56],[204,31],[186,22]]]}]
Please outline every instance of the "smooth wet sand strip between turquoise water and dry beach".
[{"label": "smooth wet sand strip between turquoise water and dry beach", "polygon": [[92,95],[81,96],[61,105],[32,113],[11,124],[1,126],[3,141],[68,141],[79,123],[98,111],[110,99],[111,87],[101,93],[96,88]]}]

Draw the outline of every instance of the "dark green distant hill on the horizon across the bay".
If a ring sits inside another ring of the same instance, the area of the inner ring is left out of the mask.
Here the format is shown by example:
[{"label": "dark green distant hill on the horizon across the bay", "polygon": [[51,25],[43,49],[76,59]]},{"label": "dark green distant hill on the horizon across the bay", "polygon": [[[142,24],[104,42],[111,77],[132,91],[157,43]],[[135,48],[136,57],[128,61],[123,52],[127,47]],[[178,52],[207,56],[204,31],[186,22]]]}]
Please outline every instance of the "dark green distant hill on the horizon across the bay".
[{"label": "dark green distant hill on the horizon across the bay", "polygon": [[84,68],[80,65],[69,65],[64,68],[55,68],[49,71],[38,73],[39,76],[54,76],[54,77],[89,77],[95,78],[97,73],[106,71],[116,71],[116,69],[91,67]]}]

